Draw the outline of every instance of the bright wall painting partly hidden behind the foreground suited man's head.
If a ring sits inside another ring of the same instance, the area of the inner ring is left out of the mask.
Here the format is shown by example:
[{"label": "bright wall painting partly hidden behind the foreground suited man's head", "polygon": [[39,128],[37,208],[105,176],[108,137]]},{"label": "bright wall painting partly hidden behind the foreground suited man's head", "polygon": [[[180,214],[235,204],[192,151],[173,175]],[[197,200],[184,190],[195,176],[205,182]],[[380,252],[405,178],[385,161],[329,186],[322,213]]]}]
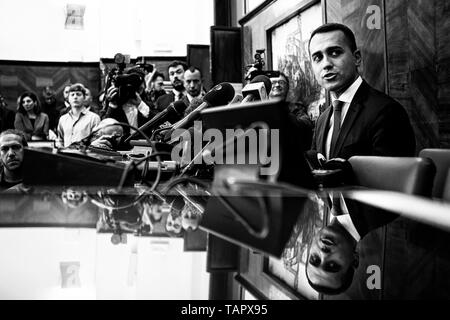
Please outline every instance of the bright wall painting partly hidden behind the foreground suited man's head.
[{"label": "bright wall painting partly hidden behind the foreground suited man's head", "polygon": [[267,29],[269,68],[287,76],[288,100],[302,105],[312,120],[318,118],[326,99],[314,78],[308,52],[310,35],[321,24],[322,3],[310,1]]}]

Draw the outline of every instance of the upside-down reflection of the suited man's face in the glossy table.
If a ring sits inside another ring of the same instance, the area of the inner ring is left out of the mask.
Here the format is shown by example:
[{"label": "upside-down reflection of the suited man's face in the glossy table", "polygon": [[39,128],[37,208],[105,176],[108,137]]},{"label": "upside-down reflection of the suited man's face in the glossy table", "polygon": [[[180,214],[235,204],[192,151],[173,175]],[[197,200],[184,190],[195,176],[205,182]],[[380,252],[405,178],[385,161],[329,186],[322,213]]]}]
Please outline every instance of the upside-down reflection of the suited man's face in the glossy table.
[{"label": "upside-down reflection of the suited man's face in the glossy table", "polygon": [[357,266],[355,242],[340,225],[321,229],[314,237],[306,262],[306,274],[316,286],[338,289],[350,268]]}]

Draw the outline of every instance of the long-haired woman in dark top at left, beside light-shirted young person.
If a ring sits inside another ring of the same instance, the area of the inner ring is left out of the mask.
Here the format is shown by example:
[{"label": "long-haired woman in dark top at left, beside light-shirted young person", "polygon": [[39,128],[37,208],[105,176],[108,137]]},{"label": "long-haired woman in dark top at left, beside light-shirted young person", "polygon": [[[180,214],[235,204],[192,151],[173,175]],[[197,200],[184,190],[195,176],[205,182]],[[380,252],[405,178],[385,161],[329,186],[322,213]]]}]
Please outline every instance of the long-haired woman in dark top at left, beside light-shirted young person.
[{"label": "long-haired woman in dark top at left, beside light-shirted young person", "polygon": [[14,121],[14,127],[25,133],[30,140],[46,140],[49,130],[49,118],[41,112],[37,96],[32,92],[24,92],[19,97],[19,106]]}]

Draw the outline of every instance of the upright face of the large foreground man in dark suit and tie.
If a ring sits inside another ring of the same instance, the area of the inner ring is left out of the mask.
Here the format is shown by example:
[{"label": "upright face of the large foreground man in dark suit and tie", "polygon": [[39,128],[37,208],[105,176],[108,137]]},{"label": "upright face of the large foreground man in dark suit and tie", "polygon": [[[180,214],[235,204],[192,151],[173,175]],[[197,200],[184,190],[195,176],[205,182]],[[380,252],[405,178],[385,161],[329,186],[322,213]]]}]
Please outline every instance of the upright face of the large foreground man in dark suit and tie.
[{"label": "upright face of the large foreground man in dark suit and tie", "polygon": [[311,62],[317,82],[337,95],[357,78],[359,51],[352,52],[342,31],[318,33],[311,39]]}]

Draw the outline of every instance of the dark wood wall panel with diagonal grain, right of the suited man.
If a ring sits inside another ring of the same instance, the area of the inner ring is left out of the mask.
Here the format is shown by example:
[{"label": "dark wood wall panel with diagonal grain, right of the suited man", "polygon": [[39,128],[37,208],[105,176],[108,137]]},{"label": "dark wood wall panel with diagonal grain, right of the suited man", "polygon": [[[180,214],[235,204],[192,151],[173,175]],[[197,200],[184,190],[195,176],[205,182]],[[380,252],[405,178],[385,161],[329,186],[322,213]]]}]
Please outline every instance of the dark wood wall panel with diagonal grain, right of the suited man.
[{"label": "dark wood wall panel with diagonal grain, right of the suited man", "polygon": [[436,1],[386,1],[389,93],[408,111],[417,147],[439,147]]}]

